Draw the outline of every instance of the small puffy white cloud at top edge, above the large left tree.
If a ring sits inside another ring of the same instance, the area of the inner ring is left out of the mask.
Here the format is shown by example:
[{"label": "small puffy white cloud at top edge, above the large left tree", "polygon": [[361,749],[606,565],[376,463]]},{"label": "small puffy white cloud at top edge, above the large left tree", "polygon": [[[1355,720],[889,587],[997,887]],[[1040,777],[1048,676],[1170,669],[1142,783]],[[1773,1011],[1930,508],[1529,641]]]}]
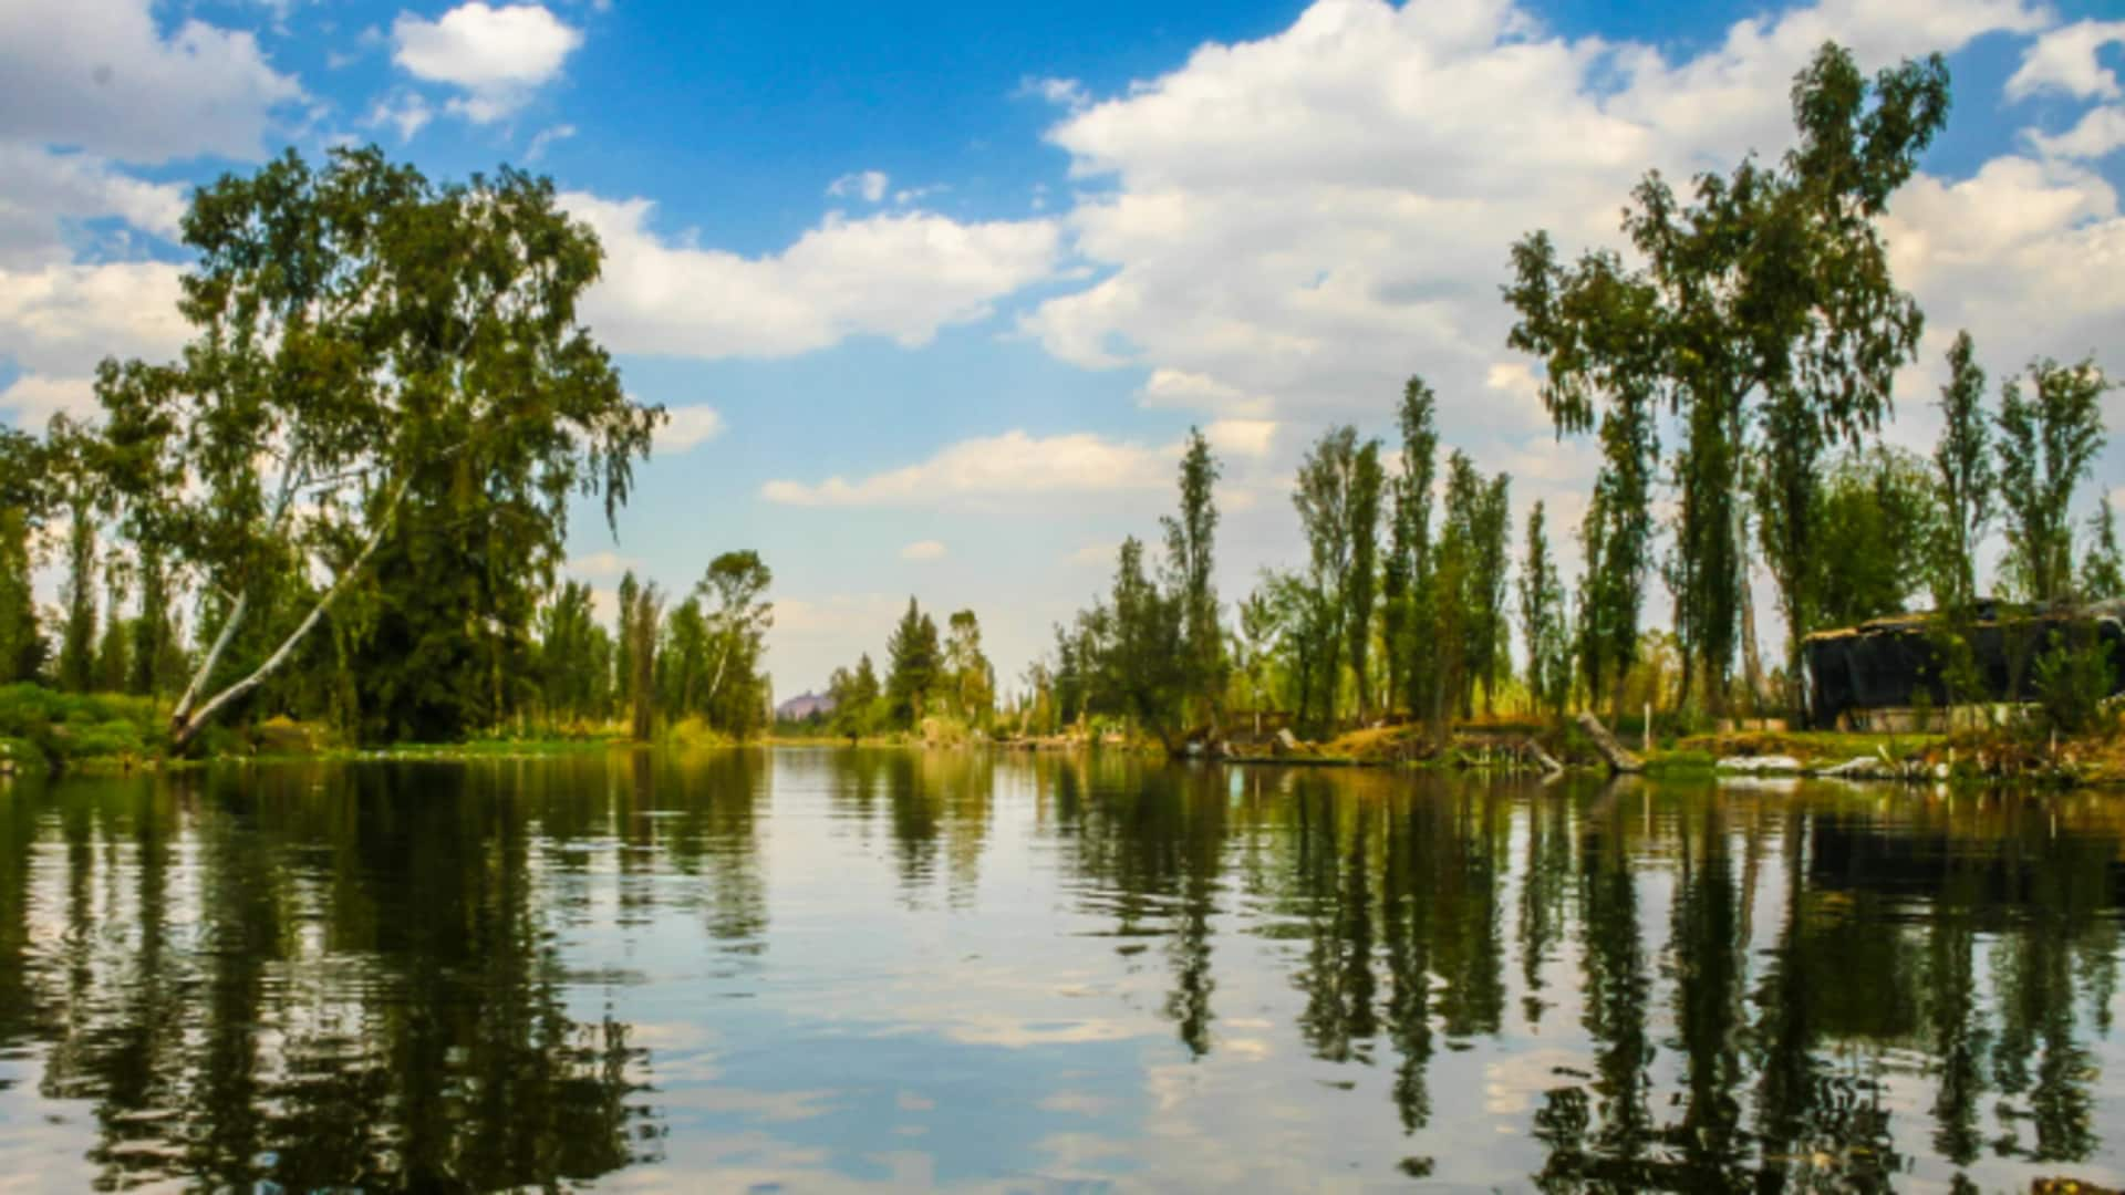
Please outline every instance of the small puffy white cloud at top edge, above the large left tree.
[{"label": "small puffy white cloud at top edge, above the large left tree", "polygon": [[470,0],[429,21],[400,13],[391,21],[391,60],[414,79],[448,83],[463,96],[448,108],[474,123],[497,121],[561,72],[582,32],[540,4],[491,9]]}]

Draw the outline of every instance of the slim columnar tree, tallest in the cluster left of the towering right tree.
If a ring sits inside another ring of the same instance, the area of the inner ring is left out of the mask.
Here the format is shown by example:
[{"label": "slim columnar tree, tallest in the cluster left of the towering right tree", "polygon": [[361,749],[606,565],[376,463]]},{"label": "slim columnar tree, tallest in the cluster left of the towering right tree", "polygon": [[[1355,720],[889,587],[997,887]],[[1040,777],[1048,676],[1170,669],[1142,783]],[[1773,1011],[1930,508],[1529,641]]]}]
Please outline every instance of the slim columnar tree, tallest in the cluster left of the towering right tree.
[{"label": "slim columnar tree, tallest in the cluster left of the towering right tree", "polygon": [[1430,708],[1432,640],[1417,634],[1430,623],[1432,476],[1439,464],[1434,427],[1439,400],[1424,378],[1402,385],[1396,423],[1402,466],[1390,483],[1388,561],[1381,568],[1381,629],[1388,644],[1388,700],[1411,712]]}]

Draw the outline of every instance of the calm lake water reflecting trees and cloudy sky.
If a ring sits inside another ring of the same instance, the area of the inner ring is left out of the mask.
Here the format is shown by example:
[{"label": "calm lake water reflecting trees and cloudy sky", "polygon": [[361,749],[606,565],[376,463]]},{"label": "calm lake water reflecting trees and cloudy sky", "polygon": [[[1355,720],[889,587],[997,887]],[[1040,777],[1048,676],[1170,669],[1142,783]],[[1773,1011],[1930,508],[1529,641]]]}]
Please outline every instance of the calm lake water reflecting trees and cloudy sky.
[{"label": "calm lake water reflecting trees and cloudy sky", "polygon": [[0,782],[0,1191],[2125,1186],[2121,806],[846,751]]}]

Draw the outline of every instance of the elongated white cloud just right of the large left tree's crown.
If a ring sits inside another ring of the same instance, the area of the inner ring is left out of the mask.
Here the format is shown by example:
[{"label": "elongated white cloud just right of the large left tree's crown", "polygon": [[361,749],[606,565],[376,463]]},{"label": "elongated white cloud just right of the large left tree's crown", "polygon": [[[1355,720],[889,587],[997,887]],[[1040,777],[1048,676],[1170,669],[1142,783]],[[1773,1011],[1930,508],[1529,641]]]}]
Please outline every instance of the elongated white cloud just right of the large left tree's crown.
[{"label": "elongated white cloud just right of the large left tree's crown", "polygon": [[774,257],[740,257],[657,236],[648,200],[567,193],[561,204],[606,247],[584,315],[623,353],[788,357],[850,336],[918,347],[1050,276],[1058,253],[1052,221],[890,213],[827,217]]}]

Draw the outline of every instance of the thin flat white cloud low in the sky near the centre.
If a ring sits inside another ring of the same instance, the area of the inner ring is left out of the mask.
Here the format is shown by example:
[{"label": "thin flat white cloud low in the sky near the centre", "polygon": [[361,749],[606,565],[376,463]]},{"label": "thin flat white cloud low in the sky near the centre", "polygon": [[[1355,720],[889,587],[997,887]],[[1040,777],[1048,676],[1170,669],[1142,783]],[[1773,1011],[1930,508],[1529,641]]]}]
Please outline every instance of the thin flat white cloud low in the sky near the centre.
[{"label": "thin flat white cloud low in the sky near the centre", "polygon": [[769,481],[761,495],[786,506],[997,506],[1026,495],[1128,493],[1171,487],[1175,455],[1173,447],[1145,449],[1088,432],[1005,432],[858,481]]}]

